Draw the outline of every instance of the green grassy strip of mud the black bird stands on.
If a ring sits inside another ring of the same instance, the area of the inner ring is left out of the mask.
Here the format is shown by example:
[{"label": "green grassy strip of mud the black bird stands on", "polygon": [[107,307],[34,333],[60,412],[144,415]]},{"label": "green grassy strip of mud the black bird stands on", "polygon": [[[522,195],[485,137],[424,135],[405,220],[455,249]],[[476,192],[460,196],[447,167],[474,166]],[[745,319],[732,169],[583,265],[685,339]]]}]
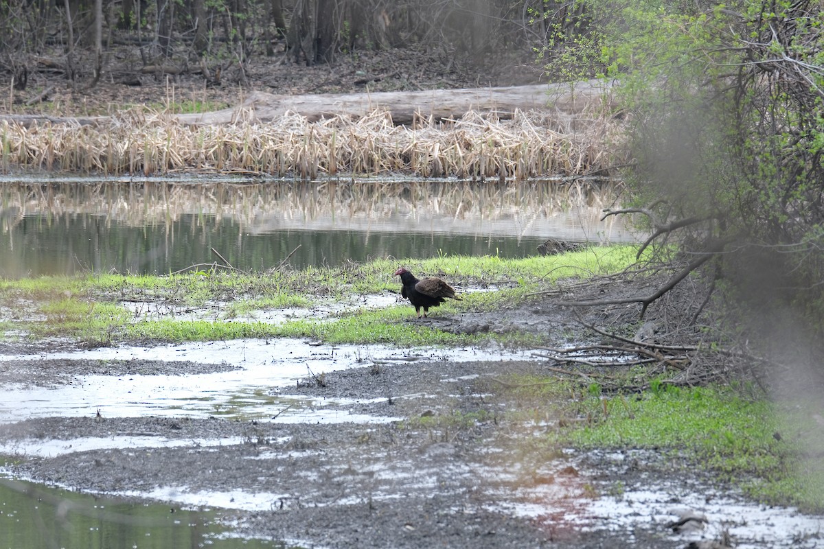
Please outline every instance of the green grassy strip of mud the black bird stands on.
[{"label": "green grassy strip of mud the black bird stands on", "polygon": [[[400,326],[411,319],[408,305],[383,308],[341,307],[324,319],[286,319],[282,323],[233,321],[265,309],[311,309],[337,304],[357,295],[397,295],[392,276],[399,264],[413,272],[437,274],[456,286],[496,291],[462,292],[462,300],[443,305],[436,317],[467,314],[523,303],[564,277],[591,277],[620,272],[634,262],[633,246],[593,247],[556,256],[503,259],[494,256],[426,260],[391,258],[340,267],[278,269],[266,272],[216,268],[166,277],[88,274],[0,280],[0,307],[14,323],[4,325],[6,338],[66,337],[90,345],[147,340],[208,341],[238,337],[312,337],[329,342],[392,342],[397,345],[466,345],[471,333],[448,333],[428,326]],[[162,319],[145,319],[124,305],[162,303]],[[184,318],[181,309],[208,308],[209,318]],[[13,311],[13,312],[12,312]],[[499,337],[501,336],[490,336]],[[523,344],[535,337],[510,333],[504,342]]]}]

